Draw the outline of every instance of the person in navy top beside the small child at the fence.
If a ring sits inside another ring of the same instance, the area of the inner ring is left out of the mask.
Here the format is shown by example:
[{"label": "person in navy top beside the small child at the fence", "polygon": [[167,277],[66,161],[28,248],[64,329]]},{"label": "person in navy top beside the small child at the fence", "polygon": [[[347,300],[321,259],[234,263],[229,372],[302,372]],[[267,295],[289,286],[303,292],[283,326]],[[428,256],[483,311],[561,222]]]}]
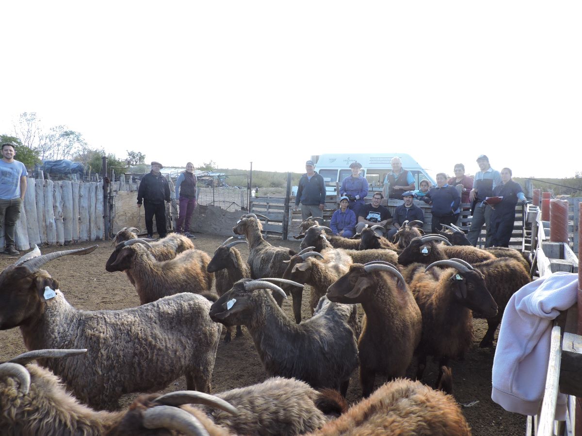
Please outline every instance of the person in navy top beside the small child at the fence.
[{"label": "person in navy top beside the small child at the fence", "polygon": [[423,201],[432,206],[431,233],[437,233],[441,224],[455,223],[459,218],[459,205],[461,196],[457,188],[446,183],[446,174],[437,174],[437,186],[431,188]]}]

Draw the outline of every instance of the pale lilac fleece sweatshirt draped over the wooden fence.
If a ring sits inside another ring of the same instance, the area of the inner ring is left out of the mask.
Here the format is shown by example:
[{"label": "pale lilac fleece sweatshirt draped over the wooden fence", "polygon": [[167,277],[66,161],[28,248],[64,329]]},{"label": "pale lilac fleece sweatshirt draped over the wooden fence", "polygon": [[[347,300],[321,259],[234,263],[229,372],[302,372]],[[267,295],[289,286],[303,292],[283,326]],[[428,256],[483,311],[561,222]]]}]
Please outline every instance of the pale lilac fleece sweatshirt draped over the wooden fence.
[{"label": "pale lilac fleece sweatshirt draped over the wooden fence", "polygon": [[[548,372],[552,320],[576,303],[578,274],[554,273],[528,283],[509,300],[493,360],[493,401],[509,412],[540,412]],[[556,419],[566,419],[558,394]]]}]

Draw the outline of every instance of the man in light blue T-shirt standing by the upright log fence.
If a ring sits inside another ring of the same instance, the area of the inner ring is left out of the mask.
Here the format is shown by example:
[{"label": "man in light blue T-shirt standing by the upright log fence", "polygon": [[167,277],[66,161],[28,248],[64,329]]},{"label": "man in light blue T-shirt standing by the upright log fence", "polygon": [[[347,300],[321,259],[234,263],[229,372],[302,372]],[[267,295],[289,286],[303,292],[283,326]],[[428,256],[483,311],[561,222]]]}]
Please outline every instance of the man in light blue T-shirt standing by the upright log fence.
[{"label": "man in light blue T-shirt standing by the upright log fence", "polygon": [[4,253],[19,255],[15,248],[16,221],[20,217],[20,208],[26,193],[26,167],[14,159],[15,146],[2,144],[2,159],[0,162],[0,229],[3,227],[6,244]]}]

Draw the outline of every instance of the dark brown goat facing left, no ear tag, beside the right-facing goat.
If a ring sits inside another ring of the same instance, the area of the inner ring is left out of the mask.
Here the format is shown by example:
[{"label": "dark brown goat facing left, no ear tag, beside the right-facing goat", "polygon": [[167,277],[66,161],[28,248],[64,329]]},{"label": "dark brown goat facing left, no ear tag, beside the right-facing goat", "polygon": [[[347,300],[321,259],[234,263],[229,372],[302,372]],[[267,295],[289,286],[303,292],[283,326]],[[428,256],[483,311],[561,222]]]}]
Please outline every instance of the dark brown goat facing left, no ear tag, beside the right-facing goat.
[{"label": "dark brown goat facing left, no ear tag, beside the right-facing goat", "polygon": [[404,377],[420,341],[422,318],[398,270],[382,263],[352,265],[329,287],[327,297],[361,303],[364,309],[358,341],[362,394],[372,393],[377,373],[389,379]]}]

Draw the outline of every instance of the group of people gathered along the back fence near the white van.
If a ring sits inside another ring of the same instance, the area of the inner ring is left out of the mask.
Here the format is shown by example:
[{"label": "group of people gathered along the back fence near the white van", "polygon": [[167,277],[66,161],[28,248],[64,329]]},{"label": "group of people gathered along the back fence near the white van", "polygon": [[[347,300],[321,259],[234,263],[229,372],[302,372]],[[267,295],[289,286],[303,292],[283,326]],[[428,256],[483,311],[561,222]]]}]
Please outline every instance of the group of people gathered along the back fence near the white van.
[{"label": "group of people gathered along the back fence near the white van", "polygon": [[[489,158],[480,155],[477,158],[480,170],[474,179],[464,174],[462,163],[457,163],[454,167],[455,176],[449,178],[445,173],[438,173],[435,187],[430,187],[428,180],[422,180],[420,190],[414,192],[416,182],[411,171],[402,168],[402,161],[398,157],[393,158],[391,163],[392,171],[384,179],[385,186],[389,187],[385,193],[388,198],[404,201],[396,208],[395,216],[381,205],[384,194],[380,191],[374,192],[371,203],[365,203],[368,181],[360,175],[362,165],[353,162],[350,164],[352,174],[343,179],[340,187],[340,207],[331,218],[329,227],[334,234],[349,238],[359,233],[365,224],[377,224],[386,228],[386,237],[392,238],[404,221],[424,222],[423,210],[414,204],[416,198],[431,206],[432,233],[438,233],[441,224],[456,224],[461,203],[470,203],[473,219],[467,238],[471,244],[477,245],[481,228],[485,224],[486,247],[509,245],[516,203],[527,201],[521,186],[512,180],[509,168],[503,168],[501,172],[494,170],[489,165]],[[306,162],[306,171],[299,180],[295,209],[301,204],[302,219],[312,216],[321,224],[325,206],[325,182],[315,172],[312,160]],[[492,198],[495,198],[495,202]]]}]

